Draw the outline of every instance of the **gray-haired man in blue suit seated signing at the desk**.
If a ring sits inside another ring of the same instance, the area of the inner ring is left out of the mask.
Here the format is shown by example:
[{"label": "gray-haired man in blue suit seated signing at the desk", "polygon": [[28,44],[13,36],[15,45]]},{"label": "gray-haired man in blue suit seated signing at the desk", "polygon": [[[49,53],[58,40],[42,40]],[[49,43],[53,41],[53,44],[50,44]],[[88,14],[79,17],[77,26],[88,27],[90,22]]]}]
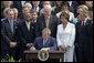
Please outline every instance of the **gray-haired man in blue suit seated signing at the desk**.
[{"label": "gray-haired man in blue suit seated signing at the desk", "polygon": [[44,51],[49,51],[49,50],[58,50],[58,45],[56,45],[56,40],[52,36],[50,36],[51,31],[50,29],[45,28],[42,31],[42,36],[39,36],[35,39],[33,46],[30,48],[31,51],[35,51],[35,50],[44,50]]}]

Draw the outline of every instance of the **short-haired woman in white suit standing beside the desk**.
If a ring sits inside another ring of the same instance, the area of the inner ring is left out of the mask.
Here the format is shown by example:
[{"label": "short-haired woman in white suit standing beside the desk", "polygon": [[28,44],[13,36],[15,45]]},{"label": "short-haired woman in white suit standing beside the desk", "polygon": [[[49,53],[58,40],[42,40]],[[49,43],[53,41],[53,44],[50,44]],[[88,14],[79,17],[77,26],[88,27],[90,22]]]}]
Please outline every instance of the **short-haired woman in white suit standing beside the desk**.
[{"label": "short-haired woman in white suit standing beside the desk", "polygon": [[62,12],[60,19],[62,24],[58,25],[58,46],[64,51],[64,62],[73,62],[75,25],[69,22],[69,13]]}]

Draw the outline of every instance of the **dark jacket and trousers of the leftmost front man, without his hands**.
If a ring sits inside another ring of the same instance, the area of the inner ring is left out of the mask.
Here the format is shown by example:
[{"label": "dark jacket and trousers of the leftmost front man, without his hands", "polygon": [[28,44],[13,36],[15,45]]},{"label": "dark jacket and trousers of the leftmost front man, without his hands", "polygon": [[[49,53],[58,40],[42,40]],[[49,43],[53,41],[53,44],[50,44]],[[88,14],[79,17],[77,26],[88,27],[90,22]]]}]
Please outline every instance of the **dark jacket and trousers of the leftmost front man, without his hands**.
[{"label": "dark jacket and trousers of the leftmost front man, without his hands", "polygon": [[15,30],[18,23],[14,21],[13,23],[14,24],[13,24],[13,32],[12,32],[8,19],[1,22],[1,57],[6,60],[8,60],[7,54],[10,54],[14,57],[15,48],[10,48],[10,42],[17,42]]}]

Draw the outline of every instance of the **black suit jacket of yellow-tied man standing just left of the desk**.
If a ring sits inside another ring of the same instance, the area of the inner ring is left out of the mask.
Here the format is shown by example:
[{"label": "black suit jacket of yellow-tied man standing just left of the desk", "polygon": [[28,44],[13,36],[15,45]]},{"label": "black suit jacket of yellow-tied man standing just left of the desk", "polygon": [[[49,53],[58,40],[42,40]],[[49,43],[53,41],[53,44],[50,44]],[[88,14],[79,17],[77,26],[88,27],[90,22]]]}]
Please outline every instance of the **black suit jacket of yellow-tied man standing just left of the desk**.
[{"label": "black suit jacket of yellow-tied man standing just left of the desk", "polygon": [[27,45],[27,43],[33,43],[34,40],[34,27],[30,27],[30,31],[28,31],[25,21],[19,23],[17,29],[18,40],[21,44]]}]

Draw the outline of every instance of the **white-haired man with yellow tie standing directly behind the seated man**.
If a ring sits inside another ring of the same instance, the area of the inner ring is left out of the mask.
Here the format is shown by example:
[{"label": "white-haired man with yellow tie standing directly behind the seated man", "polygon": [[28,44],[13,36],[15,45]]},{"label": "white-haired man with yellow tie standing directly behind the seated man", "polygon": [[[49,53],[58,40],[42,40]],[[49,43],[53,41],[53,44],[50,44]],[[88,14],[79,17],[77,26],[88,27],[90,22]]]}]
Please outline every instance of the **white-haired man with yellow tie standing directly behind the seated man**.
[{"label": "white-haired man with yellow tie standing directly behind the seated man", "polygon": [[42,35],[41,31],[44,28],[49,28],[51,30],[51,36],[55,38],[56,36],[56,28],[60,22],[60,20],[51,14],[51,6],[45,6],[43,8],[43,15],[40,15],[36,21],[36,29],[35,29],[35,34],[36,36]]}]

